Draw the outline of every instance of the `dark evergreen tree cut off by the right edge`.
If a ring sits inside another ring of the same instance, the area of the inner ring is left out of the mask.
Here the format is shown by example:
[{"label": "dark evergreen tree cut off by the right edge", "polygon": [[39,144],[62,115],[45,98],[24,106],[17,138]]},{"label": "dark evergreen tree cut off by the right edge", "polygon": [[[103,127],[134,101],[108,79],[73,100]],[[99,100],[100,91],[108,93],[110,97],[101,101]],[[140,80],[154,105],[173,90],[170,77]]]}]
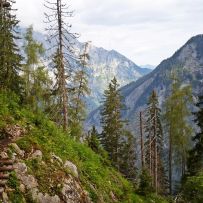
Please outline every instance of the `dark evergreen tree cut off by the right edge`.
[{"label": "dark evergreen tree cut off by the right edge", "polygon": [[189,152],[187,163],[188,172],[191,176],[196,175],[203,169],[203,96],[199,96],[196,106],[198,111],[194,113],[194,121],[198,126],[198,133],[193,137],[195,145]]}]

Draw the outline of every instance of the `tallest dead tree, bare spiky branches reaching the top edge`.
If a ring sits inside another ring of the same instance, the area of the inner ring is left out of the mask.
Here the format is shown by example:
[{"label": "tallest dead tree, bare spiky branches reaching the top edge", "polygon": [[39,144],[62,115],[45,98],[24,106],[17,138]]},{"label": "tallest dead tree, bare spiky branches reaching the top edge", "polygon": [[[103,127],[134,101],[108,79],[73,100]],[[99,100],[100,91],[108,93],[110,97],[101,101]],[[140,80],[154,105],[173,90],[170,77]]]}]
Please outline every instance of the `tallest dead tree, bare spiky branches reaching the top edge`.
[{"label": "tallest dead tree, bare spiky branches reaching the top edge", "polygon": [[78,35],[71,32],[72,25],[68,23],[68,19],[73,17],[73,11],[69,10],[69,6],[63,0],[55,0],[54,2],[45,0],[45,7],[47,8],[45,23],[48,24],[46,31],[51,44],[50,50],[54,50],[58,59],[55,63],[55,89],[59,98],[58,105],[62,115],[62,126],[66,130],[69,119],[67,85],[71,73],[70,61],[75,58],[74,44]]}]

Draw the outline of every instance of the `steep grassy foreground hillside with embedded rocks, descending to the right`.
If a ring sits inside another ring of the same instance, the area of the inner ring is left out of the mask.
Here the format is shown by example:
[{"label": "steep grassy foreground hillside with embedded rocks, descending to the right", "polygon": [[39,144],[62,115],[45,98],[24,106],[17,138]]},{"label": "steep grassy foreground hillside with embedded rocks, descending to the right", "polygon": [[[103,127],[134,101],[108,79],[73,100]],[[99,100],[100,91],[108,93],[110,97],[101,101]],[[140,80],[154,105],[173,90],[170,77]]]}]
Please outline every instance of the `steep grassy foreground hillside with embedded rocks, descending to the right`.
[{"label": "steep grassy foreground hillside with embedded rocks, descending to the right", "polygon": [[4,202],[166,202],[154,195],[138,196],[108,159],[19,102],[12,93],[0,94],[0,168],[5,169],[2,160],[10,159],[15,169],[5,187],[1,181]]}]

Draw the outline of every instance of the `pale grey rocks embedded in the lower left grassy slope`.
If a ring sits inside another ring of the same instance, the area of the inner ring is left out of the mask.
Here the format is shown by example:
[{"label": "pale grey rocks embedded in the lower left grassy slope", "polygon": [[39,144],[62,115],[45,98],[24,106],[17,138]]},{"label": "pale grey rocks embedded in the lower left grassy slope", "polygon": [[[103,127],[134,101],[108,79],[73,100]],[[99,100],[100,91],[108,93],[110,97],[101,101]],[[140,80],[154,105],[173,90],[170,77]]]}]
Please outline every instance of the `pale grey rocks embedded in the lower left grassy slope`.
[{"label": "pale grey rocks embedded in the lower left grassy slope", "polygon": [[[33,201],[36,201],[37,203],[91,203],[88,192],[82,188],[79,181],[78,169],[72,162],[67,160],[63,163],[60,157],[55,154],[51,155],[50,162],[52,162],[53,165],[55,165],[55,162],[59,163],[60,167],[64,169],[64,174],[67,172],[69,174],[65,175],[58,183],[58,188],[60,188],[60,190],[57,191],[56,194],[44,193],[40,191],[40,181],[38,181],[34,174],[30,174],[29,167],[24,162],[25,158],[22,159],[22,156],[24,156],[22,150],[15,143],[10,146],[12,147],[14,153],[17,154],[14,156],[16,158],[14,168],[16,176],[20,182],[19,191],[22,194],[31,194]],[[44,165],[45,163],[42,158],[42,151],[36,150],[27,159],[30,161],[36,159],[37,162]],[[51,176],[49,178],[50,180],[52,179]],[[51,187],[51,185],[47,185],[47,187]],[[6,193],[4,195],[6,195]]]}]

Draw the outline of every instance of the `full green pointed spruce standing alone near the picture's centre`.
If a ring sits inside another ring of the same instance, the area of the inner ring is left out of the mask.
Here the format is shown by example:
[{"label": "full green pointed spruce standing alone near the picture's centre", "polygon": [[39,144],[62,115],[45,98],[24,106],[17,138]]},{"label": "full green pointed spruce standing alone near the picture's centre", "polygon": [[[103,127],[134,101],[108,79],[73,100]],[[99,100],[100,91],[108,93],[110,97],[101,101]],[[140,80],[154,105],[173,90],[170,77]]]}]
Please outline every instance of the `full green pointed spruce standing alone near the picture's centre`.
[{"label": "full green pointed spruce standing alone near the picture's centre", "polygon": [[101,110],[102,144],[108,152],[109,158],[119,169],[120,139],[123,130],[121,111],[123,109],[122,97],[116,78],[111,80],[108,89],[104,92],[104,102]]}]

